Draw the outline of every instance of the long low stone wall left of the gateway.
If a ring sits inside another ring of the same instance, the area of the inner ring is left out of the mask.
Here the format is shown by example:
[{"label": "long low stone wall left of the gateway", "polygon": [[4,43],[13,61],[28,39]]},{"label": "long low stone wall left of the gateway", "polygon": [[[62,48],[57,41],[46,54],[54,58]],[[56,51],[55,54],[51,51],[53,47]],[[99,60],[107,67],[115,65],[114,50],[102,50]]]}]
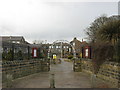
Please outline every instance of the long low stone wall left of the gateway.
[{"label": "long low stone wall left of the gateway", "polygon": [[12,78],[16,79],[38,72],[48,72],[49,70],[49,60],[3,61],[2,81],[6,81],[7,75],[12,75]]}]

